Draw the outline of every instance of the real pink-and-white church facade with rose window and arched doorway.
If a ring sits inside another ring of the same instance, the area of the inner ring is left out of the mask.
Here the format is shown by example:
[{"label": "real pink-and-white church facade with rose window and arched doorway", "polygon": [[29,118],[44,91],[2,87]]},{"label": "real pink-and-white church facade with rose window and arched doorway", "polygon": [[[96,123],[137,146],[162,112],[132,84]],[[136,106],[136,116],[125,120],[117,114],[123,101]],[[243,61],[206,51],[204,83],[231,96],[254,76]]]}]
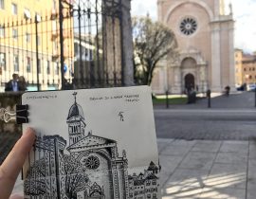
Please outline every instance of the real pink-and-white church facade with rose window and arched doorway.
[{"label": "real pink-and-white church facade with rose window and arched doorway", "polygon": [[221,92],[234,88],[234,21],[225,0],[158,0],[158,21],[170,27],[178,57],[155,69],[155,93]]}]

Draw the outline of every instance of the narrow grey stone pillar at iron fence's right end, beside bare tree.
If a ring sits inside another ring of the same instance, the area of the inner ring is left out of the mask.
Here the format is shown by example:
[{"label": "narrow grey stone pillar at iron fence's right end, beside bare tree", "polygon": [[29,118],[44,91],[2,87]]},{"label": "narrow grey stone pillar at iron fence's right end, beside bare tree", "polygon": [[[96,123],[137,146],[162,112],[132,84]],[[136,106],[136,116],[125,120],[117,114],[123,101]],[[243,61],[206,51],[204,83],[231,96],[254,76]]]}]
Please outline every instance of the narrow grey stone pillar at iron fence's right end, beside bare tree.
[{"label": "narrow grey stone pillar at iron fence's right end, beside bare tree", "polygon": [[123,59],[123,83],[134,85],[134,48],[131,21],[131,0],[121,1],[121,31],[122,31],[122,59]]}]

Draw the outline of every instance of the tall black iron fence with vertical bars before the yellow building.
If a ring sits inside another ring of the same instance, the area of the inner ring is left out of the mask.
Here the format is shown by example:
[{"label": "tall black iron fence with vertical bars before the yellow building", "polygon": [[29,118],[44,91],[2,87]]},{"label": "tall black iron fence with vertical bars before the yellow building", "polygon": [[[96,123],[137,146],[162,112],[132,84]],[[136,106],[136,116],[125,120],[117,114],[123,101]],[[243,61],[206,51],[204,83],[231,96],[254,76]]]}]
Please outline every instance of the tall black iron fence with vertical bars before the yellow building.
[{"label": "tall black iron fence with vertical bars before the yellow building", "polygon": [[59,1],[34,15],[1,18],[1,90],[13,73],[28,90],[122,85],[121,7],[119,0]]}]

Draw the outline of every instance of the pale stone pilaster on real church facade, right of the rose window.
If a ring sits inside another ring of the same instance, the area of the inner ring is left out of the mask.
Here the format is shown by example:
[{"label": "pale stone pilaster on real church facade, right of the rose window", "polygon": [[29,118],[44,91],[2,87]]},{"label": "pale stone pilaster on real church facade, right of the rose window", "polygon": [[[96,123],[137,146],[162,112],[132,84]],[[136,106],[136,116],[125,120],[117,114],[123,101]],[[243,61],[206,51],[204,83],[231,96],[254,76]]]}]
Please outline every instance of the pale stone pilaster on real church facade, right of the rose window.
[{"label": "pale stone pilaster on real church facade, right of the rose window", "polygon": [[215,23],[211,28],[211,77],[210,90],[221,91],[220,27]]}]

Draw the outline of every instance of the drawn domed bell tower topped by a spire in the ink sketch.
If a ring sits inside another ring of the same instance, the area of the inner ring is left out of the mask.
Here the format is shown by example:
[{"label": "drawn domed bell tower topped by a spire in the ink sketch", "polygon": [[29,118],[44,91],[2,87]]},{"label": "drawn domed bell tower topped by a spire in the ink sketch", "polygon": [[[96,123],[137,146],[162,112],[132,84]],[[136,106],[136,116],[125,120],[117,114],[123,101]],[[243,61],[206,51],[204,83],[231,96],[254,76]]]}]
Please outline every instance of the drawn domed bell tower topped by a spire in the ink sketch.
[{"label": "drawn domed bell tower topped by a spire in the ink sketch", "polygon": [[78,142],[84,136],[84,122],[82,107],[77,103],[77,92],[73,93],[75,102],[70,107],[66,123],[68,125],[69,146]]}]

